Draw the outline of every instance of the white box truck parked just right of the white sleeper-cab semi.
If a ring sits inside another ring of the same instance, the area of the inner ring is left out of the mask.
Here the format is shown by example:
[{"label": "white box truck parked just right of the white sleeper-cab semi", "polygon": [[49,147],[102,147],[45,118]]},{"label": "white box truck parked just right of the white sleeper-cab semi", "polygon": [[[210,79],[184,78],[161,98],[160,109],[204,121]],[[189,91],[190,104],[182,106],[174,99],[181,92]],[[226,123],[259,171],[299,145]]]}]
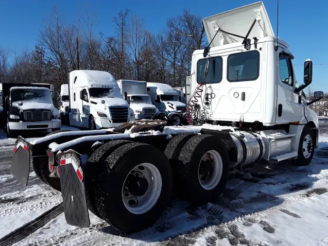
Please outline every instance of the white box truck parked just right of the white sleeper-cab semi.
[{"label": "white box truck parked just right of the white sleeper-cab semi", "polygon": [[117,81],[122,96],[134,111],[136,120],[151,119],[158,109],[147,95],[147,82],[120,79]]}]

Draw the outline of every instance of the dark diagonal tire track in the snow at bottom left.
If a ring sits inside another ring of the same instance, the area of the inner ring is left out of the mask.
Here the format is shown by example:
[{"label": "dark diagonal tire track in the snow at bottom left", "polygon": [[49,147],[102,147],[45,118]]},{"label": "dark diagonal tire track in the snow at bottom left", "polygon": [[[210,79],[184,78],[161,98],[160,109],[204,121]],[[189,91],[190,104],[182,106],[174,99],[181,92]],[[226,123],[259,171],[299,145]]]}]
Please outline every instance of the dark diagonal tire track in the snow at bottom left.
[{"label": "dark diagonal tire track in the snow at bottom left", "polygon": [[63,203],[55,206],[52,210],[46,211],[45,213],[41,214],[35,220],[25,224],[21,228],[16,229],[15,231],[9,233],[5,237],[0,239],[0,246],[10,246],[13,245],[28,235],[35,232],[37,229],[45,226],[49,221],[56,218],[64,211]]}]

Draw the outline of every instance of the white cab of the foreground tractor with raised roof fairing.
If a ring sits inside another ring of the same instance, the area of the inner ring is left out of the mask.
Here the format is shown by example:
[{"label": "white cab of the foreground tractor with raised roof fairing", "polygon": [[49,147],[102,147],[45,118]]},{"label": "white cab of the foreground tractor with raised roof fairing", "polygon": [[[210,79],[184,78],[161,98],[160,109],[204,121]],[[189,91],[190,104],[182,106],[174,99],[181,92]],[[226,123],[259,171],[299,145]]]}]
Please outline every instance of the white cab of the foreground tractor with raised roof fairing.
[{"label": "white cab of the foreground tractor with raised roof fairing", "polygon": [[[192,55],[191,91],[202,90],[204,116],[220,123],[318,127],[317,115],[299,89],[293,53],[274,35],[262,2],[204,18],[203,23],[211,45]],[[244,38],[248,31],[250,38]],[[304,69],[304,78],[310,79],[310,60]],[[305,86],[310,83],[305,80]]]}]

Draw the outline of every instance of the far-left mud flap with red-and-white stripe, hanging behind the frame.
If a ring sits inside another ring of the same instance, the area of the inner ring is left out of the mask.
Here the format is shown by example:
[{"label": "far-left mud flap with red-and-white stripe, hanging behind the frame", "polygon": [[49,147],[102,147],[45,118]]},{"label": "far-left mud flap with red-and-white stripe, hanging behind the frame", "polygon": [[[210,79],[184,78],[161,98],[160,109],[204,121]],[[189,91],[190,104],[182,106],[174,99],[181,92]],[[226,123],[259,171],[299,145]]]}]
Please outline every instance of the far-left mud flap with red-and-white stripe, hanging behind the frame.
[{"label": "far-left mud flap with red-and-white stripe, hanging behind the frame", "polygon": [[15,142],[14,155],[11,163],[11,174],[24,187],[27,185],[29,179],[30,151],[30,143],[19,136]]}]

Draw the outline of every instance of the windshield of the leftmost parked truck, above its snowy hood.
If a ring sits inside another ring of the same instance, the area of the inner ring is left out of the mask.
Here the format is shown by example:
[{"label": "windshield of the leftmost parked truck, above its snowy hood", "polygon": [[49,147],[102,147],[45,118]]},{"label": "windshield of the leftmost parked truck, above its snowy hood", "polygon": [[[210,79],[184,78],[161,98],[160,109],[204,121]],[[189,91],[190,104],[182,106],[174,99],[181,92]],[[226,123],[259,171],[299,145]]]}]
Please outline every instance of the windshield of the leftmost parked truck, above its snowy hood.
[{"label": "windshield of the leftmost parked truck, above its snowy hood", "polygon": [[11,103],[14,102],[35,102],[52,104],[50,90],[45,89],[13,89],[11,91]]}]

